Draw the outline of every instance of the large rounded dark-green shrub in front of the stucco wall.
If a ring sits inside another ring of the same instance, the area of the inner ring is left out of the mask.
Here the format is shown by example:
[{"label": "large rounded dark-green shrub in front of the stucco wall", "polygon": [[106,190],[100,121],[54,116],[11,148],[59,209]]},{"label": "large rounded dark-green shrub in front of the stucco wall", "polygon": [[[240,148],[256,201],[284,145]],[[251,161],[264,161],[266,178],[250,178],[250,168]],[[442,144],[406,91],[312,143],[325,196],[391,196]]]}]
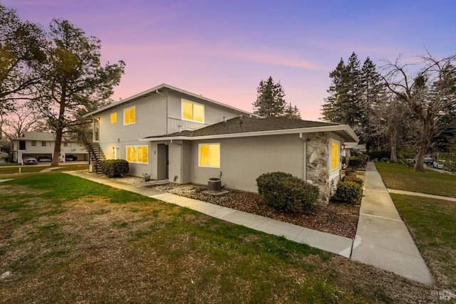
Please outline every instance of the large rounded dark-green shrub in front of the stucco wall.
[{"label": "large rounded dark-green shrub in front of the stucco wall", "polygon": [[304,212],[318,198],[318,187],[285,172],[261,174],[257,186],[263,201],[283,212]]}]

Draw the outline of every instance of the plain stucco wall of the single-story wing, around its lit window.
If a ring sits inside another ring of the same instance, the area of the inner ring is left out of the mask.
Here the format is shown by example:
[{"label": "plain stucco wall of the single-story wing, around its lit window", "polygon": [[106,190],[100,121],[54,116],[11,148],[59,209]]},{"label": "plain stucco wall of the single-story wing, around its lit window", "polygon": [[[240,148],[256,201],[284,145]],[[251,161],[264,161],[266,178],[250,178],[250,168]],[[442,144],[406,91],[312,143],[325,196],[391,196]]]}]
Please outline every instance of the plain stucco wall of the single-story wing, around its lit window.
[{"label": "plain stucco wall of the single-story wing, around its lit window", "polygon": [[[220,168],[199,167],[198,144],[220,143]],[[299,135],[261,136],[197,141],[192,145],[192,183],[207,184],[219,177],[227,188],[257,192],[256,179],[266,172],[303,177],[304,143]]]}]

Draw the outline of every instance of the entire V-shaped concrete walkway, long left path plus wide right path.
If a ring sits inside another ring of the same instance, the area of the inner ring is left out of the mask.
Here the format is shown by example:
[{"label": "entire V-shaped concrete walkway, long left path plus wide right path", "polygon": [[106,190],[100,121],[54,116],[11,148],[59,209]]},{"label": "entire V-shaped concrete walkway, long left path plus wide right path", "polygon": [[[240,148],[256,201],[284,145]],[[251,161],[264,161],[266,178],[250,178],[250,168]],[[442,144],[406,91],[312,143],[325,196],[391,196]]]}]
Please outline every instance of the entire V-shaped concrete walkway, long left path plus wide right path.
[{"label": "entire V-shaped concrete walkway, long left path plus wide right path", "polygon": [[284,236],[286,239],[306,243],[314,248],[336,253],[355,261],[371,264],[392,271],[400,276],[433,284],[434,281],[423,257],[395,209],[393,201],[373,163],[368,164],[358,220],[356,238],[326,234],[294,224],[268,219],[264,216],[237,211],[224,206],[209,204],[196,199],[177,196],[144,187],[143,184],[125,184],[88,172],[66,172],[77,177],[110,187],[135,192],[161,201],[199,211],[202,214],[263,231]]}]

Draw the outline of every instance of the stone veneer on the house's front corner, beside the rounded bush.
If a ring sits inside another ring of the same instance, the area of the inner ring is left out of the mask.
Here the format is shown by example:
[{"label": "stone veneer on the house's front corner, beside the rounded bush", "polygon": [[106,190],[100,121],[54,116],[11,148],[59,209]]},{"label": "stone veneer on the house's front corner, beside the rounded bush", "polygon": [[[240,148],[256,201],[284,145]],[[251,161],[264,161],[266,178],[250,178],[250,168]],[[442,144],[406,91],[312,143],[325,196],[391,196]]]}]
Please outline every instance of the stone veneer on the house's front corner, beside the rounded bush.
[{"label": "stone veneer on the house's front corner, beside the rounded bush", "polygon": [[328,159],[328,133],[318,132],[307,135],[306,178],[307,182],[320,189],[317,204],[327,205],[329,202]]}]

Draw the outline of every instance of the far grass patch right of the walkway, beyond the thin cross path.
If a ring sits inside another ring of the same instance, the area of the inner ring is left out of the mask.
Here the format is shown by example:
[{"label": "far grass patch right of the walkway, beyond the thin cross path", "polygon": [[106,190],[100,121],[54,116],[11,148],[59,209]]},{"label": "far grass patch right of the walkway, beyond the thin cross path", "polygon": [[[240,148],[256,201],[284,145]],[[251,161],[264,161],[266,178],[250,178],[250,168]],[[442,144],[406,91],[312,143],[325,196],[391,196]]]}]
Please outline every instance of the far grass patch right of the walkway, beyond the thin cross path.
[{"label": "far grass patch right of the walkway, beyond the thin cross path", "polygon": [[425,169],[415,172],[400,164],[375,162],[387,188],[456,197],[456,174]]}]

